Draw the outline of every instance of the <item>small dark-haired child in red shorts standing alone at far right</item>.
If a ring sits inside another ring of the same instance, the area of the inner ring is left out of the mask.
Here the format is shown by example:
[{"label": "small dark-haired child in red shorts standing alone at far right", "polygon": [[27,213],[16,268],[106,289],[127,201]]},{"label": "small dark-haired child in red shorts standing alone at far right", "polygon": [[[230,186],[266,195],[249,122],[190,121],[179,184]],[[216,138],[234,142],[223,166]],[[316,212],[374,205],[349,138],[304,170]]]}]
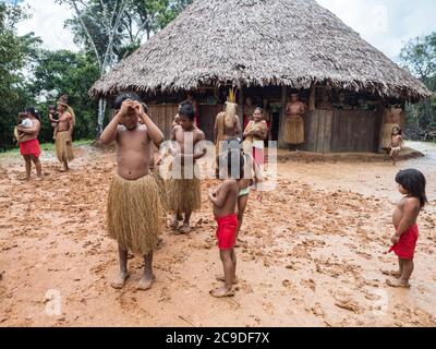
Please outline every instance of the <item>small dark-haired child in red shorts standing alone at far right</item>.
[{"label": "small dark-haired child in red shorts standing alone at far right", "polygon": [[395,276],[397,280],[387,280],[387,285],[391,287],[410,288],[409,279],[413,273],[414,253],[419,238],[417,216],[427,203],[425,195],[426,180],[423,173],[415,169],[400,171],[397,174],[399,192],[404,197],[398,203],[393,212],[393,227],[396,233],[391,237],[390,242],[393,246],[389,252],[395,252],[398,256],[399,270],[384,272]]}]

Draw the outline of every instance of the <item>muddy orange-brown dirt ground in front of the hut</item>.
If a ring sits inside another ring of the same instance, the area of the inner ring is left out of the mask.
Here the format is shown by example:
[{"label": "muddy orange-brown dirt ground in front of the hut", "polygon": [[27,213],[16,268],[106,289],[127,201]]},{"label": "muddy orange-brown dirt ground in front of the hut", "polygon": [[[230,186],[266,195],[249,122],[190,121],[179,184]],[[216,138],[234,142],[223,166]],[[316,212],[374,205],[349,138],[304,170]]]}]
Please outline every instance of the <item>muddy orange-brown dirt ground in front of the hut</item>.
[{"label": "muddy orange-brown dirt ground in front of the hut", "polygon": [[[241,284],[234,299],[208,291],[221,272],[215,221],[203,185],[203,209],[190,236],[165,230],[156,253],[157,281],[134,286],[135,257],[124,290],[110,288],[116,243],[105,233],[113,154],[77,151],[71,173],[50,154],[44,182],[21,183],[21,159],[0,167],[0,326],[435,326],[436,152],[401,163],[429,179],[433,200],[420,218],[421,241],[411,290],[385,286],[390,215],[399,197],[398,168],[370,164],[279,165],[278,190],[249,204]],[[32,198],[34,197],[34,198]],[[47,293],[49,291],[49,293]],[[50,315],[52,294],[61,314]]]}]

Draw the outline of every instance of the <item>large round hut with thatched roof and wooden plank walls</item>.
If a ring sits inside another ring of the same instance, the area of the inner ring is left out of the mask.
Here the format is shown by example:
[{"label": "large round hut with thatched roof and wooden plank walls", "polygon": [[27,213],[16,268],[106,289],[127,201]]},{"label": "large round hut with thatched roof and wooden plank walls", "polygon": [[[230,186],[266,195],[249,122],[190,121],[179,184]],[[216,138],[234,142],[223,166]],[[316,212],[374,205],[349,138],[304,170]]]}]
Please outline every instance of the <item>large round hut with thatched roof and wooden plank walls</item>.
[{"label": "large round hut with thatched roof and wooden plank walls", "polygon": [[267,107],[280,146],[286,105],[298,92],[308,107],[302,148],[320,153],[377,152],[388,107],[432,95],[314,0],[196,0],[89,93],[141,93],[169,136],[191,92],[211,140],[231,86],[241,117],[246,97]]}]

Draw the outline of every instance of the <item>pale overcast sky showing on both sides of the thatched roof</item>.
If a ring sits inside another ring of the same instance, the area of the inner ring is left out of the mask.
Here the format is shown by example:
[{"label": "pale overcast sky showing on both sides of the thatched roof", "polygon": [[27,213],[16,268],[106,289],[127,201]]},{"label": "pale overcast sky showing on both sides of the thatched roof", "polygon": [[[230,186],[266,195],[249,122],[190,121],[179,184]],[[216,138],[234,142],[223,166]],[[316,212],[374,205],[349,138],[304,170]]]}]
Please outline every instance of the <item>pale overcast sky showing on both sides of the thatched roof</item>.
[{"label": "pale overcast sky showing on both sides of the thatched roof", "polygon": [[[395,60],[410,38],[436,32],[435,0],[317,1]],[[77,50],[71,33],[63,28],[64,21],[72,16],[68,7],[56,4],[55,0],[23,2],[32,7],[33,17],[20,24],[20,34],[35,32],[48,49]]]}]

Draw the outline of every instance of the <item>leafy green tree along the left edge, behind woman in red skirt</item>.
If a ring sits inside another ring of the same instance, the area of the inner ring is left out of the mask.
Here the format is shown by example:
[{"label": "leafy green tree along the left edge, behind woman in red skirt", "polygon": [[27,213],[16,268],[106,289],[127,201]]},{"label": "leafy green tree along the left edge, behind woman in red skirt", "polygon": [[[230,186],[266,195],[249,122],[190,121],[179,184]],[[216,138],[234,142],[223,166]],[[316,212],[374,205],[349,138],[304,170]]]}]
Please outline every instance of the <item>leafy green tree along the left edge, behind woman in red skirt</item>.
[{"label": "leafy green tree along the left edge, behind woman in red skirt", "polygon": [[40,39],[16,34],[16,24],[28,17],[26,9],[0,2],[0,149],[13,145],[17,113],[34,100],[23,70],[33,61]]}]

